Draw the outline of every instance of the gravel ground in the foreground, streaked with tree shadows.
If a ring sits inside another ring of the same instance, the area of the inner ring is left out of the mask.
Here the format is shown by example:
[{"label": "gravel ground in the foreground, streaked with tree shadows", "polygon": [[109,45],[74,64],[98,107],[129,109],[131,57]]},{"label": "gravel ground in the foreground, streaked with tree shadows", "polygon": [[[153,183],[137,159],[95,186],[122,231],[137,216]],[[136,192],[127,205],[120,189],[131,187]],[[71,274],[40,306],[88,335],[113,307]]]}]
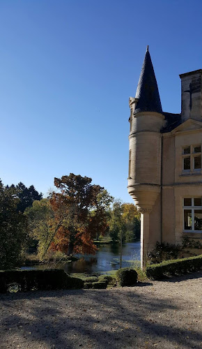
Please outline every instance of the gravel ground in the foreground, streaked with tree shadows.
[{"label": "gravel ground in the foreground, streaked with tree shadows", "polygon": [[202,348],[202,272],[111,290],[0,295],[0,348]]}]

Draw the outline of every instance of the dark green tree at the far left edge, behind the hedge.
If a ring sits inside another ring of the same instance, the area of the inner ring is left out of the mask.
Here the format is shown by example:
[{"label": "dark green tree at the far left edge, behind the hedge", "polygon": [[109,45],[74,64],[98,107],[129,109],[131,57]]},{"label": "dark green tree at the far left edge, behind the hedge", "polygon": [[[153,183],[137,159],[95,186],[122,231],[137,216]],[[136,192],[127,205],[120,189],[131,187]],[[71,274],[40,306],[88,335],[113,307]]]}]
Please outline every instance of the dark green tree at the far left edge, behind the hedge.
[{"label": "dark green tree at the far left edge, behind the hedge", "polygon": [[26,217],[19,212],[16,188],[0,181],[0,269],[15,267],[20,262],[26,242]]}]

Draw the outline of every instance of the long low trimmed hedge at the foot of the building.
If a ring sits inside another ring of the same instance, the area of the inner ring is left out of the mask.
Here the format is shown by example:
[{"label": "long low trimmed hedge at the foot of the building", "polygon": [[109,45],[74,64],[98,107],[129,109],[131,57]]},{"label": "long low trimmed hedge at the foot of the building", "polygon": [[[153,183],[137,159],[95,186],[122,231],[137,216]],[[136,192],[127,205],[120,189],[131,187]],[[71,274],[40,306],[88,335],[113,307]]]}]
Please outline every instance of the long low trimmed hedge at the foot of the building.
[{"label": "long low trimmed hedge at the foot of the building", "polygon": [[175,276],[196,272],[202,268],[202,255],[182,258],[178,260],[166,260],[160,264],[146,267],[146,276],[149,279],[160,280],[167,276]]}]

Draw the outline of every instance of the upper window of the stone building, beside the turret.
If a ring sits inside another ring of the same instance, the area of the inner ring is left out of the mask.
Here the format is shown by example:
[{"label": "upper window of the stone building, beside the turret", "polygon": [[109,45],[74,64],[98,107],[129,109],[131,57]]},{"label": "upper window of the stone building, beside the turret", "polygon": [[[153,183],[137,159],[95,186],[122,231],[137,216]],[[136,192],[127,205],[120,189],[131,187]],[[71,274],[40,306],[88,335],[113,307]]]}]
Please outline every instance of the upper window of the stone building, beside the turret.
[{"label": "upper window of the stone building, beside the turret", "polygon": [[184,172],[201,170],[201,144],[182,148],[182,170]]}]

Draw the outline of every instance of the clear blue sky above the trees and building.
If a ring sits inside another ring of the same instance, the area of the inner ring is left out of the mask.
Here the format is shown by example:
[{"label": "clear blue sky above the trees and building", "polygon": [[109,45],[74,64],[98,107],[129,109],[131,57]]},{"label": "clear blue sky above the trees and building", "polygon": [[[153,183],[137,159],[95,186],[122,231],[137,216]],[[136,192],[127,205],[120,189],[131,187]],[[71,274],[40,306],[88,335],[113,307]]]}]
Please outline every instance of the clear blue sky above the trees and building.
[{"label": "clear blue sky above the trees and building", "polygon": [[0,0],[3,184],[46,194],[88,176],[127,193],[128,98],[146,45],[163,110],[180,112],[180,73],[202,68],[201,0]]}]

